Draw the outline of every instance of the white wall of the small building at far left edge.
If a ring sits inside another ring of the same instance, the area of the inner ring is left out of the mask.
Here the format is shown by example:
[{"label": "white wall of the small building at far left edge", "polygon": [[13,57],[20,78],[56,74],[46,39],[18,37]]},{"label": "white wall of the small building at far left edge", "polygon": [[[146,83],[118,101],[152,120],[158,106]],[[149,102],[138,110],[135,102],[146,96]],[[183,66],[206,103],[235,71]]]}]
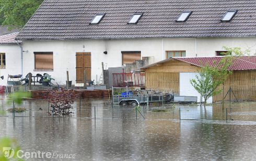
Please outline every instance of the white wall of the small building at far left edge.
[{"label": "white wall of the small building at far left edge", "polygon": [[6,61],[6,68],[0,69],[0,76],[4,76],[4,80],[0,79],[0,84],[6,85],[8,74],[21,74],[21,49],[17,44],[0,45],[0,53],[5,53]]}]

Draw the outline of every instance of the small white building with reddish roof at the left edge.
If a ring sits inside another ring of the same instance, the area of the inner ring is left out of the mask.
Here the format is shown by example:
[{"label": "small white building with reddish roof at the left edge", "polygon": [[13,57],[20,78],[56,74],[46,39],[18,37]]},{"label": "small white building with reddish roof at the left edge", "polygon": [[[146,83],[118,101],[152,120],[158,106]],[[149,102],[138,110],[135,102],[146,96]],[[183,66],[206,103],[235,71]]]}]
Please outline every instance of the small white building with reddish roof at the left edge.
[{"label": "small white building with reddish roof at the left edge", "polygon": [[7,84],[8,75],[22,74],[21,42],[16,41],[18,32],[0,36],[0,79],[1,85]]}]

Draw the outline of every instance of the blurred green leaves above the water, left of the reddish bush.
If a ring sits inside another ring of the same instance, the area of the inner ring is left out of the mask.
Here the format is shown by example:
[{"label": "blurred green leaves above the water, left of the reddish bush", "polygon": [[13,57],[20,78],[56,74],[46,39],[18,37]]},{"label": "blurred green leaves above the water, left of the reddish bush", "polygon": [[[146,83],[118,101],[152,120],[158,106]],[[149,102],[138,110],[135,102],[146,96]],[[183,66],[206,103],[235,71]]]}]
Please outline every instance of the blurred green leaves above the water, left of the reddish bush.
[{"label": "blurred green leaves above the water, left of the reddish bush", "polygon": [[18,91],[18,92],[14,92],[13,94],[9,94],[8,97],[9,98],[7,100],[7,104],[14,102],[15,104],[20,105],[22,103],[22,101],[24,100],[24,98],[31,97],[31,92]]}]

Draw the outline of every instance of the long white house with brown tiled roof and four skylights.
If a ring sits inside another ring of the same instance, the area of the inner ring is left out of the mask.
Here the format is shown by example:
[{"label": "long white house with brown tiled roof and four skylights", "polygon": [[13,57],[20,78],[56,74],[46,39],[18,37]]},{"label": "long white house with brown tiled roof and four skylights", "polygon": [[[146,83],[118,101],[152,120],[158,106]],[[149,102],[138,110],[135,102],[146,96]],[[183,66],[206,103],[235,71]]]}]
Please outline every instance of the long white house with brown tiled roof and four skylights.
[{"label": "long white house with brown tiled roof and four skylights", "polygon": [[[101,62],[119,67],[149,57],[212,57],[223,46],[256,51],[255,1],[45,0],[17,36],[24,73],[65,84],[96,80]],[[74,83],[73,83],[74,84]]]}]

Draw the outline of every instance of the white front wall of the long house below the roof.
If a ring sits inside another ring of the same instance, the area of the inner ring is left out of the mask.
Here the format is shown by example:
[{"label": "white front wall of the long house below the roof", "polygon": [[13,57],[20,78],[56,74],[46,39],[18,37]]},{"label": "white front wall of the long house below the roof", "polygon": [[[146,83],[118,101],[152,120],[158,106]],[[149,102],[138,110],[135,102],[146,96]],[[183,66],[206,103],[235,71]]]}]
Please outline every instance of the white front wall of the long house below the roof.
[{"label": "white front wall of the long house below the roof", "polygon": [[[58,40],[58,41],[23,41],[24,75],[34,70],[33,52],[53,52],[53,71],[49,73],[57,83],[65,84],[66,71],[69,80],[76,80],[76,53],[91,53],[91,79],[96,81],[101,75],[101,62],[107,67],[122,66],[122,51],[141,51],[142,57],[152,57],[152,63],[163,60],[166,51],[186,51],[187,57],[212,57],[216,51],[223,51],[223,46],[250,49],[256,51],[256,38],[187,38],[187,39],[118,39],[118,40]],[[19,51],[19,50],[18,50]],[[107,51],[108,54],[103,54]],[[74,84],[74,83],[73,83]]]}]

